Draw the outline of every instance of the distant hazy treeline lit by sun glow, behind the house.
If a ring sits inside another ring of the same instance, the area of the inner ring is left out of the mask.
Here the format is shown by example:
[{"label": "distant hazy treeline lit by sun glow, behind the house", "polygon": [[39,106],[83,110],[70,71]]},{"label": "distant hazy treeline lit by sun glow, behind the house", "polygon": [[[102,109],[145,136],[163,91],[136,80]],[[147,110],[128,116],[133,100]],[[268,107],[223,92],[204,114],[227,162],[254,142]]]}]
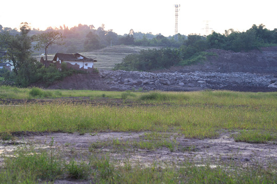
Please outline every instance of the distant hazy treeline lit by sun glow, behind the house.
[{"label": "distant hazy treeline lit by sun glow, behind the house", "polygon": [[[82,25],[68,28],[60,26],[60,28],[49,27],[45,31],[31,29],[29,35],[37,35],[45,32],[57,31],[64,37],[63,45],[52,45],[48,49],[50,53],[77,53],[89,52],[97,49],[105,48],[109,45],[140,45],[153,47],[180,47],[182,42],[187,38],[184,35],[178,35],[179,40],[174,37],[165,37],[162,34],[153,35],[152,33],[134,32],[132,29],[128,34],[118,35],[113,30],[105,30],[105,25],[97,29],[93,25]],[[0,25],[0,33],[9,32],[11,35],[19,34],[17,29],[3,28]],[[35,45],[35,43],[33,43]],[[43,53],[43,51],[41,51]]]}]

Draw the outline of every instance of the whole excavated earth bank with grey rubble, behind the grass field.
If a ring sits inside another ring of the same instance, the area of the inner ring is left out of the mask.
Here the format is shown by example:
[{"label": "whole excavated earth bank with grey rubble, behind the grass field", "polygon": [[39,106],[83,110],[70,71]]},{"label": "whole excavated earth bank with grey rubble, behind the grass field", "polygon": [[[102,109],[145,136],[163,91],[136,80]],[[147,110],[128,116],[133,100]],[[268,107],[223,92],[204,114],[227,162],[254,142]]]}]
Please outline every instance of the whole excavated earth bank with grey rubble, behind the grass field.
[{"label": "whole excavated earth bank with grey rubble, behind the grass field", "polygon": [[99,75],[78,74],[66,77],[49,88],[277,91],[277,47],[239,53],[219,49],[208,52],[214,55],[190,66],[173,66],[152,73],[100,70]]}]

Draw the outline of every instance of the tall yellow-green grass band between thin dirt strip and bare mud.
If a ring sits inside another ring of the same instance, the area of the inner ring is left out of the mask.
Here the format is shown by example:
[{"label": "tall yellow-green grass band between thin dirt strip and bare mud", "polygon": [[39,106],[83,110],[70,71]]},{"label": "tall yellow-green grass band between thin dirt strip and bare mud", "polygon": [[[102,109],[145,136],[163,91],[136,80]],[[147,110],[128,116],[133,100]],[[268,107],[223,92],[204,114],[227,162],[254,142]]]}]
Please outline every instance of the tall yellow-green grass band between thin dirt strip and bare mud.
[{"label": "tall yellow-green grass band between thin dirt strip and bare mud", "polygon": [[0,132],[16,131],[171,131],[186,137],[215,137],[219,130],[256,129],[276,133],[277,111],[271,106],[156,105],[90,106],[29,104],[3,106]]}]

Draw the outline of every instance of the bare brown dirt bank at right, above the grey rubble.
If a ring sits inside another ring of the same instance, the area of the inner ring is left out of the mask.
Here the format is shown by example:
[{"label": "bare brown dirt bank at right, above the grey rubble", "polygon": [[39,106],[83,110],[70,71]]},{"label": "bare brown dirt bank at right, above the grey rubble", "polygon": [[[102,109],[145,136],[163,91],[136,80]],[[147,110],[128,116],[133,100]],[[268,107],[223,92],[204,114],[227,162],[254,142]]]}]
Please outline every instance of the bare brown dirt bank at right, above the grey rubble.
[{"label": "bare brown dirt bank at right, above the grey rubble", "polygon": [[261,51],[250,52],[225,51],[221,49],[211,49],[207,52],[214,53],[214,56],[207,56],[206,61],[190,66],[172,66],[160,72],[181,72],[189,73],[201,72],[243,72],[252,74],[277,74],[277,47],[262,48]]}]

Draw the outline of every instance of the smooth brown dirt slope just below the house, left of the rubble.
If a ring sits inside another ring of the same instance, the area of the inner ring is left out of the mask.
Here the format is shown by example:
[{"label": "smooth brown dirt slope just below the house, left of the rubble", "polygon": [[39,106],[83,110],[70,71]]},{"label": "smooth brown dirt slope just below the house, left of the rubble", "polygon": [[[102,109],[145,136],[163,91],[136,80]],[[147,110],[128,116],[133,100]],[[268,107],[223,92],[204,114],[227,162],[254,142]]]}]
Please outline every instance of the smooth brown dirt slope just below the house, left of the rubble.
[{"label": "smooth brown dirt slope just below the house, left of the rubble", "polygon": [[75,74],[66,77],[63,81],[55,82],[48,89],[109,90],[110,87],[98,74]]}]

